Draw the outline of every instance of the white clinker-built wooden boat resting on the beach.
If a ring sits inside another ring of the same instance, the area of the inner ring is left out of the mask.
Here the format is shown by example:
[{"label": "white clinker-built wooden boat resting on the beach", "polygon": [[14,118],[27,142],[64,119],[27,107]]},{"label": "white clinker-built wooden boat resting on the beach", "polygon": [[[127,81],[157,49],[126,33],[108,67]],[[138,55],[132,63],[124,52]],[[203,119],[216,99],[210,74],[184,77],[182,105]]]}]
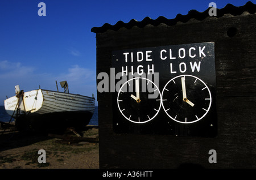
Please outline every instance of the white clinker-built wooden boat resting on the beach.
[{"label": "white clinker-built wooden boat resting on the beach", "polygon": [[6,112],[15,118],[18,128],[54,129],[88,125],[94,113],[95,98],[65,92],[36,89],[23,92],[15,86],[16,96],[5,100]]}]

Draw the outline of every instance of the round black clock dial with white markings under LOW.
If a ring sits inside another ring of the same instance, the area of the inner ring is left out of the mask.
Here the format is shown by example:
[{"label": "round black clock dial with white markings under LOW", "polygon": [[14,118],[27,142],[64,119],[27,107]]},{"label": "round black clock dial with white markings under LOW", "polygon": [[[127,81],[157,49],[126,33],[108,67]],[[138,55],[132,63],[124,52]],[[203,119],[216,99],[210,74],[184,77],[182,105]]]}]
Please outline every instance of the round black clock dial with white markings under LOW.
[{"label": "round black clock dial with white markings under LOW", "polygon": [[179,123],[195,123],[209,112],[212,95],[203,80],[180,75],[169,80],[162,91],[162,106],[168,117]]}]

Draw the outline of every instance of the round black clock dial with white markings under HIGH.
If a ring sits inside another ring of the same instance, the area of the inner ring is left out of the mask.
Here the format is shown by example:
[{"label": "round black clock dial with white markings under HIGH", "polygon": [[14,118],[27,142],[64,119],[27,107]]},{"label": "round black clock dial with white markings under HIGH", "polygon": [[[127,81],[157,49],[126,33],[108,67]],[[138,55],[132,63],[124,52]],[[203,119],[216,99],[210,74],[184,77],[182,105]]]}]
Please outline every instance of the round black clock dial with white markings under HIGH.
[{"label": "round black clock dial with white markings under HIGH", "polygon": [[[130,86],[133,89],[135,87],[135,92],[128,91]],[[152,98],[155,94],[158,94],[158,96]],[[120,88],[117,96],[117,104],[119,112],[128,121],[133,123],[147,123],[159,113],[161,108],[161,93],[157,85],[151,80],[142,77],[133,78],[125,82]]]}]

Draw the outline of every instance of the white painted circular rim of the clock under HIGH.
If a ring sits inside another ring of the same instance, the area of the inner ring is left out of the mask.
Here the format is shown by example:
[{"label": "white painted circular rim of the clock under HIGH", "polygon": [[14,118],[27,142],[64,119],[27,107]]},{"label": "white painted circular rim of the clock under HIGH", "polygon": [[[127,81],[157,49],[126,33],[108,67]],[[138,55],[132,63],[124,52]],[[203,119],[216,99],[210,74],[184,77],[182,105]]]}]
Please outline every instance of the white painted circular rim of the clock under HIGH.
[{"label": "white painted circular rim of the clock under HIGH", "polygon": [[[126,83],[128,83],[130,80],[134,80],[134,79],[145,79],[145,80],[150,81],[152,84],[155,85],[155,87],[158,89],[158,92],[159,92],[159,96],[160,96],[160,105],[159,105],[159,109],[158,109],[158,111],[156,112],[156,114],[154,115],[154,117],[148,119],[147,121],[143,121],[143,122],[132,121],[131,119],[127,118],[127,117],[122,113],[122,110],[121,110],[120,107],[119,107],[118,98],[119,98],[119,93],[121,92],[121,89],[123,88],[123,86],[124,86]],[[154,119],[154,118],[156,117],[156,115],[158,115],[158,113],[159,113],[159,111],[160,111],[160,109],[161,109],[161,106],[162,106],[162,94],[161,94],[160,89],[158,88],[158,86],[157,86],[154,82],[152,82],[150,79],[143,78],[143,77],[132,78],[132,79],[127,80],[125,83],[123,83],[122,87],[119,89],[118,95],[117,95],[117,105],[118,105],[119,112],[121,112],[121,114],[123,115],[123,117],[125,117],[128,121],[133,122],[133,123],[143,124],[143,123],[147,123],[147,122],[151,121],[152,119]]]}]

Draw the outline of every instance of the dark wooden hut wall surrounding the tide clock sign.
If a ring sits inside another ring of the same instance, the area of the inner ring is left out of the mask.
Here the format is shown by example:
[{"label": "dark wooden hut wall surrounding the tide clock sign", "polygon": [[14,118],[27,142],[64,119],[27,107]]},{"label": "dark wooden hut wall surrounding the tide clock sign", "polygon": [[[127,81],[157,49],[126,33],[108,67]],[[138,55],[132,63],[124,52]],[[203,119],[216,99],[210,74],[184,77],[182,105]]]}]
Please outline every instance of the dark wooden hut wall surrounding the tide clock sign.
[{"label": "dark wooden hut wall surrounding the tide clock sign", "polygon": [[[100,168],[256,168],[255,30],[256,14],[244,12],[97,33],[97,74],[110,74],[113,50],[214,42],[218,117],[215,138],[115,134],[112,93],[97,93]],[[216,164],[208,162],[210,149]]]}]

